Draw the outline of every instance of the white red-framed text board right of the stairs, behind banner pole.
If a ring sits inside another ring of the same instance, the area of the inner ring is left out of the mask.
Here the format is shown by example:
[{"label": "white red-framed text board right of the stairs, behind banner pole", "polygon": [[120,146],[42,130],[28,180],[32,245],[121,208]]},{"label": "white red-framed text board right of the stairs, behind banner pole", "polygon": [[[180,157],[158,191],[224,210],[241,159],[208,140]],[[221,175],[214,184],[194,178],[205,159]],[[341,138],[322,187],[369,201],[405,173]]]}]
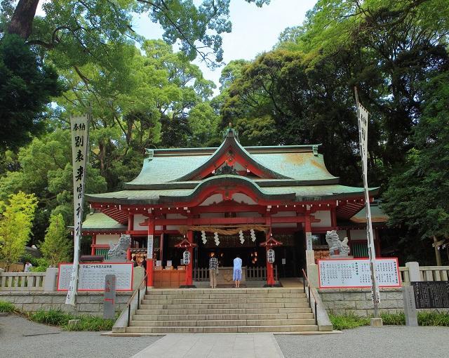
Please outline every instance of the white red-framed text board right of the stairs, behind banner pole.
[{"label": "white red-framed text board right of the stairs, behind banner pole", "polygon": [[[400,287],[397,258],[376,258],[377,284],[380,287]],[[318,260],[320,289],[371,287],[368,258]]]}]

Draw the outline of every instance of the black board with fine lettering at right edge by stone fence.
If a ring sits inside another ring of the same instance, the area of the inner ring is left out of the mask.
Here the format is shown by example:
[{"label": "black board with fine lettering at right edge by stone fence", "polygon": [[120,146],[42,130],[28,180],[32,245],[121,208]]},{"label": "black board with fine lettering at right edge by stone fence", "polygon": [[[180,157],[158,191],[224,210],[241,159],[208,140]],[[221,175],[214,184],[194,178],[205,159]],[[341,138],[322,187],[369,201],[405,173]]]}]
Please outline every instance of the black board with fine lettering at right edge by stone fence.
[{"label": "black board with fine lettering at right edge by stone fence", "polygon": [[449,308],[449,281],[410,282],[416,308]]}]

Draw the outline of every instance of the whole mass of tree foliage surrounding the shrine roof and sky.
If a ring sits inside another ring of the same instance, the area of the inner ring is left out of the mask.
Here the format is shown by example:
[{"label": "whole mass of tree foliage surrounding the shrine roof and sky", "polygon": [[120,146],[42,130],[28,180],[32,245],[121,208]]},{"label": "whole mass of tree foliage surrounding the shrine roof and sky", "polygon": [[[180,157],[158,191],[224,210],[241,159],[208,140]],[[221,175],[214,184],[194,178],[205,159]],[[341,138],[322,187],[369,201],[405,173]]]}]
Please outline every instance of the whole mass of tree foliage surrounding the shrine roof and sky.
[{"label": "whole mass of tree foliage surrounding the shrine roof and sky", "polygon": [[[361,185],[354,86],[396,241],[420,260],[413,247],[448,237],[446,0],[319,0],[271,51],[229,62],[215,98],[191,60],[222,60],[230,0],[55,0],[41,17],[37,3],[0,3],[0,199],[36,193],[37,240],[52,213],[72,222],[71,114],[93,114],[88,192],[120,190],[145,148],[218,145],[229,122],[243,145],[322,143],[330,172]],[[163,39],[136,34],[133,14]]]}]

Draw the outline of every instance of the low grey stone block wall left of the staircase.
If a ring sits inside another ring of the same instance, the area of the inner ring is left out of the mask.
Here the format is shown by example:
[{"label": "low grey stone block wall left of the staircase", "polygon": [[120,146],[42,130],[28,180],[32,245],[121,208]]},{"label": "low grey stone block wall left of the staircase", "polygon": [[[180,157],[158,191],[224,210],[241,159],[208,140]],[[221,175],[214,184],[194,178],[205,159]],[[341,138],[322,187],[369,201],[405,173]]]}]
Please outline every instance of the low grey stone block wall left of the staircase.
[{"label": "low grey stone block wall left of the staircase", "polygon": [[[116,293],[116,312],[121,312],[128,302],[131,292]],[[65,304],[65,291],[29,292],[1,291],[0,300],[13,303],[19,310],[35,312],[37,310],[62,310],[74,313],[74,307]],[[103,314],[102,292],[80,292],[77,297],[76,310],[81,314],[101,316]]]}]

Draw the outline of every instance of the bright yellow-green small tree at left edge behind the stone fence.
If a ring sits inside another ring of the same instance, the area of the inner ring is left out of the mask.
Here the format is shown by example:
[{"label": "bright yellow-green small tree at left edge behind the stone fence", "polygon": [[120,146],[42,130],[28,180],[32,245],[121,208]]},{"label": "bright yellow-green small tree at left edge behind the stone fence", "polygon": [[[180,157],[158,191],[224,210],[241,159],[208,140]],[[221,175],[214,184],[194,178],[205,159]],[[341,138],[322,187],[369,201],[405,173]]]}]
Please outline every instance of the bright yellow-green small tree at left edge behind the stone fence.
[{"label": "bright yellow-green small tree at left edge behind the stone fence", "polygon": [[0,218],[0,259],[6,271],[25,253],[25,245],[32,234],[37,199],[34,194],[18,192],[9,197]]}]

